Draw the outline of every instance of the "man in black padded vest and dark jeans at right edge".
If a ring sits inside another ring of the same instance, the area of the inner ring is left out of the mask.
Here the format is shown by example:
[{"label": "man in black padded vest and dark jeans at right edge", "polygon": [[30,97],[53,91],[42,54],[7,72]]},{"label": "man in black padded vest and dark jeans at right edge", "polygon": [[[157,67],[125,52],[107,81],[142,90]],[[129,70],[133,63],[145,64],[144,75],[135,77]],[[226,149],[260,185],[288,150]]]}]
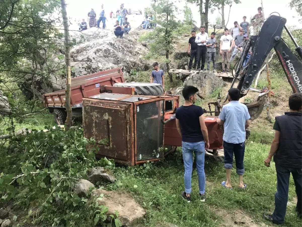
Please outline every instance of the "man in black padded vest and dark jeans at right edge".
[{"label": "man in black padded vest and dark jeans at right edge", "polygon": [[271,158],[277,172],[277,192],[275,193],[275,211],[263,214],[263,217],[275,224],[283,224],[288,201],[289,177],[292,174],[297,193],[296,211],[302,218],[302,94],[289,97],[290,112],[276,117],[273,129],[275,138],[271,150],[265,159],[265,166],[270,166]]}]

